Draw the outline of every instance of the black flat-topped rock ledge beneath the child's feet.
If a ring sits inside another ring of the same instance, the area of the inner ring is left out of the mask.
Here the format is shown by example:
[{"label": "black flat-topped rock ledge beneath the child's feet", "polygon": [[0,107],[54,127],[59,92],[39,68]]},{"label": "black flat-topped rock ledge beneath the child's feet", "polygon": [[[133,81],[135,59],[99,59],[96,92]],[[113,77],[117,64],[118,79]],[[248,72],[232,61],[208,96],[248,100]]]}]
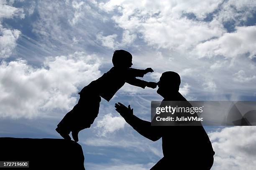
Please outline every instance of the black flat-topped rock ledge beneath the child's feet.
[{"label": "black flat-topped rock ledge beneath the child's feet", "polygon": [[84,170],[81,145],[64,139],[0,138],[0,161],[29,161],[26,170]]}]

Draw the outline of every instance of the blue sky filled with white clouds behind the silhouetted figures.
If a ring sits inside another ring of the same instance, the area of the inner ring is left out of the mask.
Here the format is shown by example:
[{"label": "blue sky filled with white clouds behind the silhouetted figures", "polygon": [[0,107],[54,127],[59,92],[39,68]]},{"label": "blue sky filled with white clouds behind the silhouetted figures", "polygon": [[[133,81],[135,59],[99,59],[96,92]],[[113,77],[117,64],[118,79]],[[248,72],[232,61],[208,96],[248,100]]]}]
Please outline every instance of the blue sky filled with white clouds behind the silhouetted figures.
[{"label": "blue sky filled with white clouds behind the silhouetted figures", "polygon": [[[61,118],[77,92],[112,67],[113,51],[133,67],[181,75],[188,100],[256,100],[255,0],[0,0],[0,136],[60,138]],[[102,99],[90,129],[79,133],[88,170],[148,170],[162,158],[115,112],[131,104],[150,120],[156,89],[125,85]],[[255,127],[205,127],[213,170],[253,170]],[[200,158],[198,158],[200,161]]]}]

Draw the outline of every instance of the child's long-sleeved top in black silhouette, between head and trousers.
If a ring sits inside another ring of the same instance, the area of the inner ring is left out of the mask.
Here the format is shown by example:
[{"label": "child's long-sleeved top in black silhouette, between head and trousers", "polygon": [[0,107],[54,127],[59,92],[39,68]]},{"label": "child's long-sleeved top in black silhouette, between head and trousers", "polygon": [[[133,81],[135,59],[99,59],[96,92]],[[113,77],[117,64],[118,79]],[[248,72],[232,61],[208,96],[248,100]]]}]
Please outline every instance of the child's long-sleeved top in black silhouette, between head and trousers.
[{"label": "child's long-sleeved top in black silhouette, between head and trousers", "polygon": [[129,83],[130,85],[145,88],[147,82],[136,78],[143,77],[145,74],[145,70],[112,67],[100,78],[92,81],[89,85],[84,87],[80,93],[86,89],[92,93],[100,95],[100,97],[103,97],[109,102],[115,93],[125,84],[125,82]]}]

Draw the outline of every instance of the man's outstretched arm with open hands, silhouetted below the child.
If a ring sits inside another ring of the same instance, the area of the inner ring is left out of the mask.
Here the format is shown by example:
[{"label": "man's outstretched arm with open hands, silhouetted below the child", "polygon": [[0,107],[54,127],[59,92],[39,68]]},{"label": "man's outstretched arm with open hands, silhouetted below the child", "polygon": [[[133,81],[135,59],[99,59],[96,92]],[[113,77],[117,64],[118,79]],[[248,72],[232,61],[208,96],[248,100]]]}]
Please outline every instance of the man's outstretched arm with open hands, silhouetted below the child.
[{"label": "man's outstretched arm with open hands, silhouetted below the child", "polygon": [[115,103],[115,110],[125,119],[125,121],[133,127],[139,134],[143,135],[152,141],[159,140],[161,138],[161,130],[158,127],[151,126],[151,122],[141,120],[133,115],[133,109],[130,105],[126,107],[122,103]]}]

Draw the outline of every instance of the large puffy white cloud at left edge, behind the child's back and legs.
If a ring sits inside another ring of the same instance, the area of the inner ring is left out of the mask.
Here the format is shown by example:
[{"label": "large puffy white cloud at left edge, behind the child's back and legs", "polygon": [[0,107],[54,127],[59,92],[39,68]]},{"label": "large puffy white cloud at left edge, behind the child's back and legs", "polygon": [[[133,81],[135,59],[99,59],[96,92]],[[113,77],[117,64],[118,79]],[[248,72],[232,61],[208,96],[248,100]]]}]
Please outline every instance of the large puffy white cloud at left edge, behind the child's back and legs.
[{"label": "large puffy white cloud at left edge, behind the child's back and legs", "polygon": [[25,60],[3,61],[0,117],[32,118],[51,115],[54,109],[69,110],[77,101],[78,87],[100,77],[99,66],[96,55],[84,52],[48,57],[40,68]]}]

